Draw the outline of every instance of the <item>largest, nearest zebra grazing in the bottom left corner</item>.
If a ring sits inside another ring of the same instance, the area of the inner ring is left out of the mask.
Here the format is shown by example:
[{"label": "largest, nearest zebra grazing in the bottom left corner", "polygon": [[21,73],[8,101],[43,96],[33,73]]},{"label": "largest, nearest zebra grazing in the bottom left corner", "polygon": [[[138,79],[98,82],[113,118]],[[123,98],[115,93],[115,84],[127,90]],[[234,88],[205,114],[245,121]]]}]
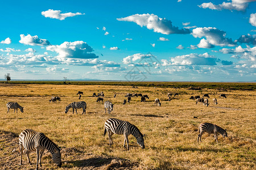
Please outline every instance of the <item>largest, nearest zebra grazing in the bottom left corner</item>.
[{"label": "largest, nearest zebra grazing in the bottom left corner", "polygon": [[44,150],[48,150],[52,154],[52,160],[61,167],[60,148],[43,133],[31,129],[23,130],[22,133],[19,134],[19,149],[20,165],[22,165],[23,149],[27,155],[28,163],[30,164],[29,154],[31,151],[36,151],[36,169],[38,169],[38,165],[42,167],[41,159],[43,152]]}]

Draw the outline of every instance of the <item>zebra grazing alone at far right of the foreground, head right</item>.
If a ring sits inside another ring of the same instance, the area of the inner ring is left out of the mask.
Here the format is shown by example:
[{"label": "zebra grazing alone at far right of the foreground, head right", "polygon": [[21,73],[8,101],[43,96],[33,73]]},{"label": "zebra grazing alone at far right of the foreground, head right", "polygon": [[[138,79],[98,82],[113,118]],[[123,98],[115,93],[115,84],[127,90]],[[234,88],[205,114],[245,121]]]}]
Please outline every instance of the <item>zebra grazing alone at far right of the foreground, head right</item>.
[{"label": "zebra grazing alone at far right of the foreground, head right", "polygon": [[198,130],[199,130],[199,135],[197,137],[197,143],[199,143],[199,138],[201,142],[201,137],[205,131],[209,134],[214,134],[214,139],[216,140],[217,143],[218,143],[217,133],[220,133],[223,137],[228,137],[226,130],[220,128],[220,126],[210,124],[210,123],[200,124]]}]

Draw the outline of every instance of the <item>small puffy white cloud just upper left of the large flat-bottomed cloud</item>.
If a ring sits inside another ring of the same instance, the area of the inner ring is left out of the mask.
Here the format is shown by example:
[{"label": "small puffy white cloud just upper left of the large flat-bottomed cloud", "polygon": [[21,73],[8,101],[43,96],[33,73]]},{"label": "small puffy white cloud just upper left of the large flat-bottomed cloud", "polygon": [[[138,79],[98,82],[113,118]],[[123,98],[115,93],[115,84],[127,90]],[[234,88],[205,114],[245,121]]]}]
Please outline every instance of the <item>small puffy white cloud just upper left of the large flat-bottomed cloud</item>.
[{"label": "small puffy white cloud just upper left of the large flat-bottomed cloud", "polygon": [[29,34],[27,36],[21,34],[19,42],[25,45],[51,45],[48,40],[39,39],[37,35],[31,36]]}]

